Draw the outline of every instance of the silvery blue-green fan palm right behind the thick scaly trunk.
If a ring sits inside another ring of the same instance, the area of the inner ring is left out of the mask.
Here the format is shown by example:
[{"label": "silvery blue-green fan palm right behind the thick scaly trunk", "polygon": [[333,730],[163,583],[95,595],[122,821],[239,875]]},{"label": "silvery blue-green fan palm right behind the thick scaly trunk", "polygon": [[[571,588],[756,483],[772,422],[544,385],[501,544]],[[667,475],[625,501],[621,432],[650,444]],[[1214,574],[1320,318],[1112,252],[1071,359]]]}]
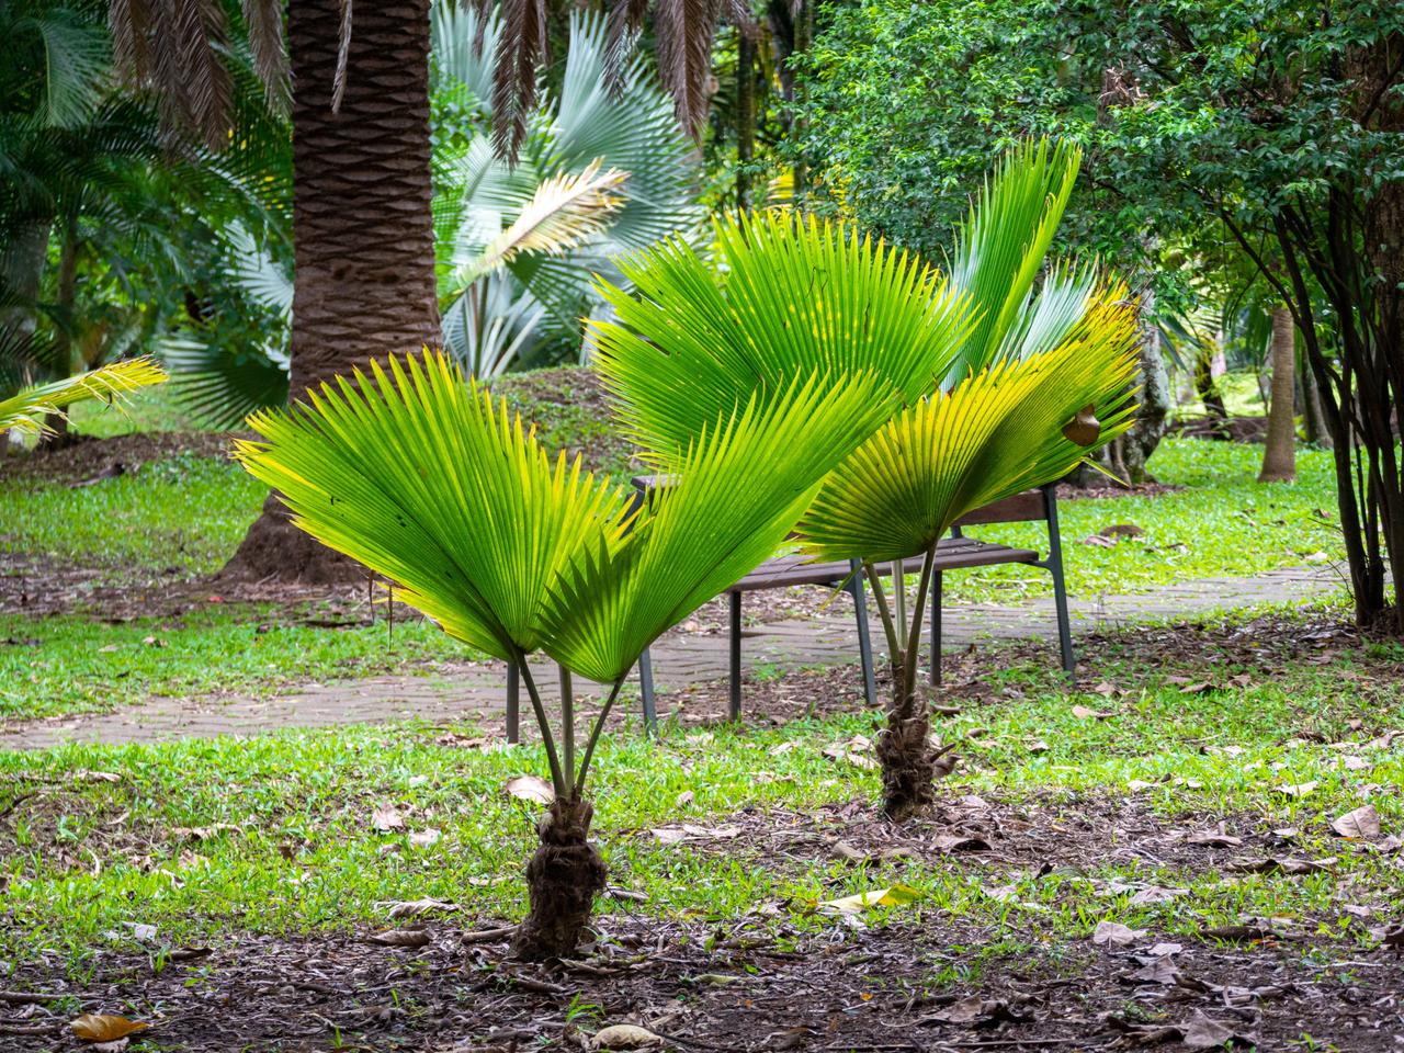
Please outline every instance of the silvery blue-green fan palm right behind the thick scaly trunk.
[{"label": "silvery blue-green fan palm right behind the thick scaly trunk", "polygon": [[[699,225],[692,146],[642,56],[618,59],[600,15],[571,11],[559,91],[526,122],[515,163],[493,150],[496,14],[434,8],[435,234],[444,347],[493,376],[560,338],[580,344],[611,258]],[[482,38],[482,48],[473,41]],[[505,250],[505,251],[500,251]]]}]

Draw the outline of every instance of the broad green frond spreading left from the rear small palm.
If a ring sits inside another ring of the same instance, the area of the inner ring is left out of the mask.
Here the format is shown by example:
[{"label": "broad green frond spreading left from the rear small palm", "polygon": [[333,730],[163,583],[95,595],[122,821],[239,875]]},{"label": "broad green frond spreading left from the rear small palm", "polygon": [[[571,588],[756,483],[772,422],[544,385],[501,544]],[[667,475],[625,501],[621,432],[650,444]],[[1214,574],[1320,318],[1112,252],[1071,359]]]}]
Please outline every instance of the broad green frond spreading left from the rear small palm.
[{"label": "broad green frond spreading left from the rear small palm", "polygon": [[621,264],[591,322],[597,366],[635,437],[668,465],[703,428],[796,376],[876,375],[911,402],[935,389],[969,331],[924,263],[844,226],[786,213],[723,218],[715,258],[681,239]]}]

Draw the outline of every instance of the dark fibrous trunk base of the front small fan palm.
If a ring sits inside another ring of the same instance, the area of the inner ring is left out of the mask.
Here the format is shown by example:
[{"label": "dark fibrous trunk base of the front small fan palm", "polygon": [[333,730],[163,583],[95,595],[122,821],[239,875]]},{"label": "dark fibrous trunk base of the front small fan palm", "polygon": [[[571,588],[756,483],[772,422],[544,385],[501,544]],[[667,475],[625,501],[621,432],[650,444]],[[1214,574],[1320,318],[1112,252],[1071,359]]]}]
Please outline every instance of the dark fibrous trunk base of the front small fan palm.
[{"label": "dark fibrous trunk base of the front small fan palm", "polygon": [[594,806],[555,800],[536,824],[541,848],[526,863],[531,910],[512,938],[512,955],[531,962],[574,953],[608,869],[590,844]]}]

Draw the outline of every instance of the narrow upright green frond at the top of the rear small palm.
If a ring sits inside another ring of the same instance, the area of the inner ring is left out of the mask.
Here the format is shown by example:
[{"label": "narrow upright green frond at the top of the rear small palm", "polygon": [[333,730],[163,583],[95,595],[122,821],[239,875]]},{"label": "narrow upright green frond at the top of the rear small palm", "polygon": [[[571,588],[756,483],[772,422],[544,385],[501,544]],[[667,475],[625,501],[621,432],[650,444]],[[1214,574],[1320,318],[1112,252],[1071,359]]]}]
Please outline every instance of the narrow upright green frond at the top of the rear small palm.
[{"label": "narrow upright green frond at the top of the rear small palm", "polygon": [[[949,380],[991,365],[1028,310],[1033,282],[1077,183],[1082,153],[1047,139],[1007,153],[956,232],[951,282],[970,298],[974,331]],[[1094,282],[1095,284],[1095,282]]]}]

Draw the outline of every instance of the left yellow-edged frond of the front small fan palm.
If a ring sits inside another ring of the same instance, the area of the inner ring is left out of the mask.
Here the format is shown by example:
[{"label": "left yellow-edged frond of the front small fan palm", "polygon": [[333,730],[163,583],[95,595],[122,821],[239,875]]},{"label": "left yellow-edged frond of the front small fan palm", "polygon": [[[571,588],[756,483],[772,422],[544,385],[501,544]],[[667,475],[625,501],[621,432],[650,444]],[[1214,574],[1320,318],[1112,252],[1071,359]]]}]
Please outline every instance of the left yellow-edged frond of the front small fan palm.
[{"label": "left yellow-edged frond of the front small fan palm", "polygon": [[397,598],[501,658],[535,650],[542,605],[585,546],[618,543],[623,494],[552,463],[535,435],[442,357],[338,378],[236,456],[295,522],[403,590]]}]

